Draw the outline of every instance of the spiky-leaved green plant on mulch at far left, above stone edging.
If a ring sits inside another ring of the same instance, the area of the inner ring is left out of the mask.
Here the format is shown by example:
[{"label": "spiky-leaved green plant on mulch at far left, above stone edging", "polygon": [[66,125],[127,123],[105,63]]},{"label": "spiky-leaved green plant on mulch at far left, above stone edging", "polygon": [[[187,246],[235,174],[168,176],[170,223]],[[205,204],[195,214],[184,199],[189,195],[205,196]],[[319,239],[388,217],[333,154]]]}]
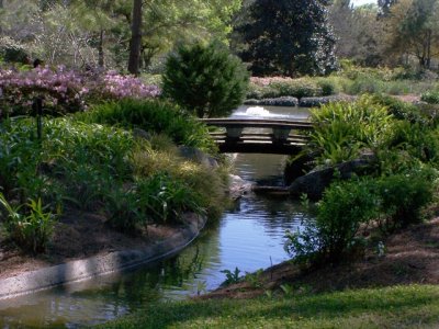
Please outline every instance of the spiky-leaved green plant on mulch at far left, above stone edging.
[{"label": "spiky-leaved green plant on mulch at far left, above stone edging", "polygon": [[0,205],[7,214],[4,226],[9,237],[24,250],[45,251],[56,222],[55,216],[43,207],[41,198],[30,200],[24,207],[14,207],[0,193]]}]

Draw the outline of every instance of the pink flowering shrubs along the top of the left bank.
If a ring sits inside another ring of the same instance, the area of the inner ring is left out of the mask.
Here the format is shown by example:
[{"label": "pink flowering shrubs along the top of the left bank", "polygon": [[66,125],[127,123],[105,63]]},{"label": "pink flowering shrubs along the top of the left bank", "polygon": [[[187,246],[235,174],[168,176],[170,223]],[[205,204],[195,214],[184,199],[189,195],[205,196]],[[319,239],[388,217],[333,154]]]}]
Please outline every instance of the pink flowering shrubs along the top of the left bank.
[{"label": "pink flowering shrubs along the top of the left bank", "polygon": [[90,73],[37,67],[32,70],[0,68],[0,118],[32,114],[32,103],[42,98],[45,113],[60,115],[83,111],[90,103],[125,98],[155,98],[156,86],[146,86],[131,76]]}]

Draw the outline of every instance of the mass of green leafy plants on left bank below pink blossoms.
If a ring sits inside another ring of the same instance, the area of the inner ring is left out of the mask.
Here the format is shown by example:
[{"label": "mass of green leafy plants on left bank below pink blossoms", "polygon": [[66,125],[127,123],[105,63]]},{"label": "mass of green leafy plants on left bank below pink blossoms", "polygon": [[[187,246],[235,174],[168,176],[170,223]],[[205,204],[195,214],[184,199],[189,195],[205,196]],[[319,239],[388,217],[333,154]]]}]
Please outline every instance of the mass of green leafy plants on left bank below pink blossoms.
[{"label": "mass of green leafy plants on left bank below pink blossoms", "polygon": [[[112,124],[120,118],[125,127],[148,123],[149,131],[167,132],[181,143],[193,138],[196,145],[203,127],[171,109],[168,120],[149,118],[148,111],[134,116],[133,107],[82,117]],[[183,212],[205,214],[219,206],[221,170],[180,158],[175,144],[164,141],[168,137],[138,139],[127,129],[79,117],[44,120],[42,140],[32,120],[5,120],[0,129],[0,218],[23,249],[43,251],[56,224],[52,214],[66,207],[102,212],[113,227],[136,232],[153,222],[180,223]]]}]

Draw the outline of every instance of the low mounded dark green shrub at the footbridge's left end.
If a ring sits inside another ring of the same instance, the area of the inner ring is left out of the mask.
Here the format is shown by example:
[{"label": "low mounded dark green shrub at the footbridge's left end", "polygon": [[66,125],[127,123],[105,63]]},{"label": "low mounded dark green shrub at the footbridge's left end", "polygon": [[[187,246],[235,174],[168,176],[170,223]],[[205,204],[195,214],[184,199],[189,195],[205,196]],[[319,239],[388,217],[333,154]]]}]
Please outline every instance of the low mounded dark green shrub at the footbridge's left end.
[{"label": "low mounded dark green shrub at the footbridge's left end", "polygon": [[121,100],[95,105],[78,113],[78,121],[142,128],[151,134],[166,134],[178,145],[215,152],[216,146],[205,125],[169,102],[159,100]]}]

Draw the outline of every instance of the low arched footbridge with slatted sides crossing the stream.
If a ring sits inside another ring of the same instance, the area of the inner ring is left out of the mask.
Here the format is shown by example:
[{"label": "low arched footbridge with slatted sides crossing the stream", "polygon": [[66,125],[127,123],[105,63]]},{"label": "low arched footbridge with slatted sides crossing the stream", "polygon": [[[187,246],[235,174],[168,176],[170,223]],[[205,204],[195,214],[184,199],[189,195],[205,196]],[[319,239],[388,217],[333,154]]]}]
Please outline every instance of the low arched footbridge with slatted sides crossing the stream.
[{"label": "low arched footbridge with slatted sides crossing the stream", "polygon": [[292,120],[202,118],[201,122],[222,128],[210,133],[221,152],[294,155],[308,141],[306,132],[313,128],[309,122]]}]

